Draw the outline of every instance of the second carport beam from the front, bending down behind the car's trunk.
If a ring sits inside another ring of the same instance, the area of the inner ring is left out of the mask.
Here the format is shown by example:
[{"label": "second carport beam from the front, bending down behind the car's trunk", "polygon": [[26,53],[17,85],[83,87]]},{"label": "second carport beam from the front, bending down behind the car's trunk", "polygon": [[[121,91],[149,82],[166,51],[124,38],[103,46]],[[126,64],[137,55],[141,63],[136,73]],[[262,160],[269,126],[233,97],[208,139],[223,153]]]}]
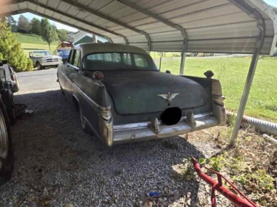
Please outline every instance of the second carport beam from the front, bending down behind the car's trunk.
[{"label": "second carport beam from the front, bending down behind the car's trunk", "polygon": [[[172,27],[172,28],[174,28],[174,29],[179,30],[179,31],[181,32],[181,35],[182,35],[183,38],[184,38],[183,53],[185,53],[185,50],[186,50],[186,48],[187,48],[187,39],[188,39],[188,38],[187,38],[186,31],[185,31],[185,29],[184,29],[183,27],[181,27],[181,26],[178,25],[178,24],[174,24],[173,22],[168,21],[167,19],[164,19],[164,18],[162,18],[161,16],[159,16],[159,15],[157,15],[157,14],[155,14],[155,13],[152,13],[151,11],[149,11],[149,10],[143,8],[143,7],[140,7],[140,6],[137,5],[136,3],[130,2],[129,0],[117,0],[117,1],[119,1],[119,2],[121,2],[121,3],[123,3],[123,4],[125,4],[125,5],[127,5],[127,6],[129,6],[129,7],[131,7],[131,8],[133,8],[133,9],[135,9],[135,10],[137,10],[137,11],[139,11],[139,12],[145,14],[145,15],[147,15],[147,16],[150,16],[150,17],[152,17],[152,18],[158,20],[159,22],[162,22],[162,23],[164,23],[164,24],[167,25],[167,26],[170,26],[170,27]],[[183,60],[184,60],[184,59],[183,59]],[[184,70],[184,62],[183,62],[183,64],[181,64],[181,66],[180,66],[180,71],[181,71],[181,69]]]}]

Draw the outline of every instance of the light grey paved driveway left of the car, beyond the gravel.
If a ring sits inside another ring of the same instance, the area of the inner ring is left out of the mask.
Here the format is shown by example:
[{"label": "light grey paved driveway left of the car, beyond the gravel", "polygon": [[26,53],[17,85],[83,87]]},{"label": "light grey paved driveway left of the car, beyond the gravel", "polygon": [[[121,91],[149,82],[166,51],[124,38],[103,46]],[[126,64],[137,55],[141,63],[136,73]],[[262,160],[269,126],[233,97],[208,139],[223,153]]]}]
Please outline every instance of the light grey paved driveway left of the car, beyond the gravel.
[{"label": "light grey paved driveway left of the car, beyond the gravel", "polygon": [[59,88],[57,69],[16,73],[20,83],[20,91],[33,91]]}]

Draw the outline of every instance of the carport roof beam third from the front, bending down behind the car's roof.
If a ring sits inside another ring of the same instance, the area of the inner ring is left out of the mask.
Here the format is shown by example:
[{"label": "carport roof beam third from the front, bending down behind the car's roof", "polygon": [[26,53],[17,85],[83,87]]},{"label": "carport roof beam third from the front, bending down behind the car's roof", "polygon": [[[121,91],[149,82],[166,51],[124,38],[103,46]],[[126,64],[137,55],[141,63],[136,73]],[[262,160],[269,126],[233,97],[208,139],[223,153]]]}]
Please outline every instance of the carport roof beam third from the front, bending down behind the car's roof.
[{"label": "carport roof beam third from the front, bending down behind the car's roof", "polygon": [[[118,25],[120,25],[120,26],[122,26],[124,28],[130,29],[130,30],[132,30],[134,32],[137,32],[139,34],[144,35],[146,40],[148,41],[148,48],[151,47],[151,43],[149,43],[150,37],[149,37],[149,35],[146,32],[144,32],[142,30],[139,30],[139,29],[137,29],[135,27],[132,27],[132,26],[130,26],[130,25],[128,25],[128,24],[126,24],[126,23],[124,23],[122,21],[114,19],[114,18],[108,16],[107,14],[104,14],[104,13],[101,13],[99,11],[96,11],[96,10],[94,10],[92,8],[89,8],[88,6],[82,5],[82,4],[80,4],[80,3],[78,3],[78,2],[76,2],[74,0],[60,0],[60,1],[66,2],[68,4],[71,4],[72,6],[75,6],[75,7],[79,8],[79,9],[81,9],[81,10],[87,11],[87,12],[92,13],[92,14],[94,14],[96,16],[99,16],[99,17],[101,17],[103,19],[106,19],[106,20],[108,20],[110,22],[118,24]],[[123,38],[125,39],[126,44],[129,44],[128,39],[126,37],[123,37]]]}]

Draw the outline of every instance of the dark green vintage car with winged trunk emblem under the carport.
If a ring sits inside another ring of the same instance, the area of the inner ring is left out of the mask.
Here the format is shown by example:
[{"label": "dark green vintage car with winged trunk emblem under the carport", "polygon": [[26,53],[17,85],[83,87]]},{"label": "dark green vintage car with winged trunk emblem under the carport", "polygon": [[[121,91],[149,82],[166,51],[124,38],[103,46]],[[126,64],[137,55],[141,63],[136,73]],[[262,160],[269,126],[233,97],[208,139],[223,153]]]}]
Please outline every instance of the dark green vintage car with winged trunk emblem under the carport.
[{"label": "dark green vintage car with winged trunk emblem under the carport", "polygon": [[81,126],[106,145],[170,137],[226,122],[218,80],[160,72],[144,50],[113,43],[73,47],[58,66]]}]

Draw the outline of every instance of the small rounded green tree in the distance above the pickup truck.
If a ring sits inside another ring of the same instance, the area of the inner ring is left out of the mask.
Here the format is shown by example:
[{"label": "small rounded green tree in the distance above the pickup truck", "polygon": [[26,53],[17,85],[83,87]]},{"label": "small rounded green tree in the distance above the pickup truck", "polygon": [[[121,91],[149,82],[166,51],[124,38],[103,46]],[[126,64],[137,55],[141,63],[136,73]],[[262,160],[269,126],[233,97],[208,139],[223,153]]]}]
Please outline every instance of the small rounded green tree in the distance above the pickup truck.
[{"label": "small rounded green tree in the distance above the pickup truck", "polygon": [[48,43],[49,50],[50,43],[57,39],[57,32],[54,25],[51,25],[48,19],[41,19],[41,37]]}]

